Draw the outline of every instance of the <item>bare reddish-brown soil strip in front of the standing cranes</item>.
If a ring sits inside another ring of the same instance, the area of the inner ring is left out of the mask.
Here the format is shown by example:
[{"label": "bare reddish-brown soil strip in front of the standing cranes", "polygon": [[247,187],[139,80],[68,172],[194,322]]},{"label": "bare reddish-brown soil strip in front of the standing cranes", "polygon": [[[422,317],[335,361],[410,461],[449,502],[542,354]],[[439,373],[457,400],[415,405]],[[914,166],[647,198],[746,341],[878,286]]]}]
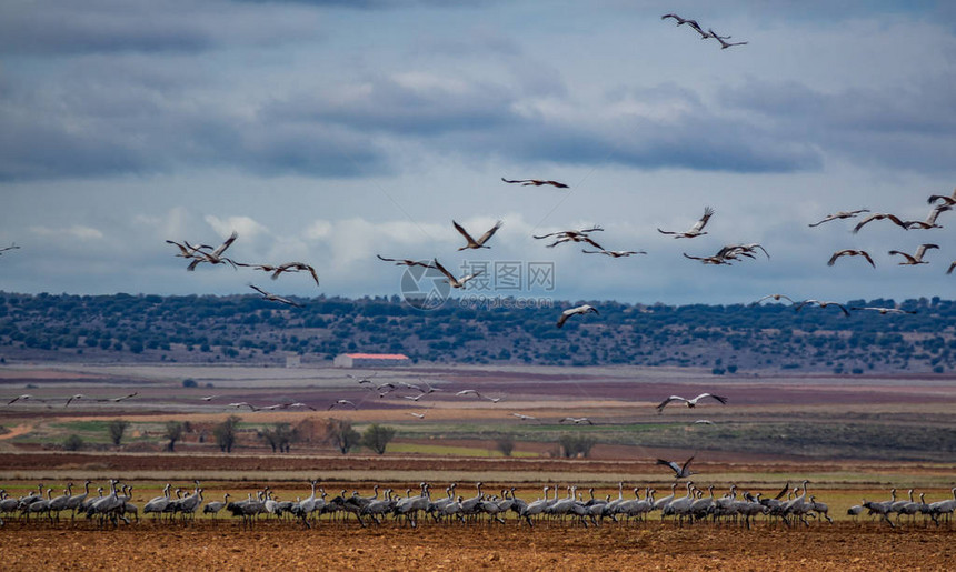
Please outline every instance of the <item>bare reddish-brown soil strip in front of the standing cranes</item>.
[{"label": "bare reddish-brown soil strip in front of the standing cranes", "polygon": [[360,529],[320,522],[151,522],[96,531],[91,523],[8,523],[4,570],[954,570],[952,530],[888,531],[874,524],[787,530],[695,525],[580,529],[388,522]]}]

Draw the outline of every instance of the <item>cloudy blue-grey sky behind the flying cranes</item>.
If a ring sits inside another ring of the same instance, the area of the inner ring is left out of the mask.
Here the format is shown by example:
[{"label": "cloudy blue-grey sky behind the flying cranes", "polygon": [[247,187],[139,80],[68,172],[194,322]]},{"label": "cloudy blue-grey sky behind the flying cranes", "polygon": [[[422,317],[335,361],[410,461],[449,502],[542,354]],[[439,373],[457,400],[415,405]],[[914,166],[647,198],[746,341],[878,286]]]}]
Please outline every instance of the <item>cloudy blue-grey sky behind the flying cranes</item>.
[{"label": "cloudy blue-grey sky behind the flying cranes", "polygon": [[[756,6],[755,6],[756,4]],[[0,290],[396,294],[375,255],[554,264],[561,300],[956,294],[949,2],[10,0],[0,3]],[[721,50],[677,12],[747,46]],[[564,181],[570,190],[509,185]],[[685,230],[716,210],[694,240]],[[491,249],[458,252],[457,220]],[[600,224],[628,259],[532,234]],[[185,261],[165,241],[243,262]],[[721,245],[770,259],[705,267]],[[892,249],[940,247],[929,264]],[[838,249],[869,251],[827,267]],[[491,267],[494,268],[494,267]],[[527,277],[526,277],[527,278]],[[511,284],[514,285],[514,284]]]}]

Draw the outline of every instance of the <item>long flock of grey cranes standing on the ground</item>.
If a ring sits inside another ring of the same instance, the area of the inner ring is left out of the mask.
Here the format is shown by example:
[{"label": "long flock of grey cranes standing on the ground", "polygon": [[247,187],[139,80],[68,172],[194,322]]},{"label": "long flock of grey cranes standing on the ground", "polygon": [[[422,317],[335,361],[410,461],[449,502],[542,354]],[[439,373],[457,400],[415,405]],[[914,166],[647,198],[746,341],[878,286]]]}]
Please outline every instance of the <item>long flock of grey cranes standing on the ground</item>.
[{"label": "long flock of grey cranes standing on the ground", "polygon": [[[686,471],[689,461],[683,468],[673,464],[678,478],[680,472],[690,474]],[[157,523],[186,524],[195,521],[197,514],[209,515],[215,520],[220,513],[240,519],[243,529],[252,529],[261,520],[291,520],[310,529],[325,515],[328,521],[348,521],[355,516],[362,528],[369,524],[380,525],[389,516],[411,528],[417,528],[420,521],[429,520],[435,523],[506,524],[505,519],[509,516],[519,526],[535,526],[536,523],[545,521],[588,528],[599,526],[607,521],[619,524],[648,522],[654,512],[660,513],[661,523],[671,519],[679,526],[709,521],[750,529],[759,518],[768,522],[780,522],[788,528],[799,523],[809,526],[808,518],[820,522],[825,519],[830,524],[834,522],[827,504],[817,501],[816,495],[808,495],[809,481],[806,480],[793,489],[787,483],[776,495],[766,498],[760,492],[741,492],[736,484],[733,484],[726,494],[716,496],[714,485],[698,488],[691,481],[685,483],[686,494],[683,496],[677,493],[680,483],[675,481],[667,496],[657,498],[655,489],[645,486],[644,498],[640,496],[641,488],[633,489],[634,499],[625,495],[623,482],[618,483],[617,498],[607,494],[604,499],[596,496],[594,489],[588,490],[589,498],[586,498],[582,488],[577,485],[548,484],[542,486],[541,496],[531,501],[520,499],[514,488],[504,489],[500,494],[489,494],[485,492],[481,482],[475,484],[477,494],[468,499],[456,492],[457,483],[446,488],[444,496],[432,498],[431,485],[426,482],[419,484],[417,495],[412,494],[411,489],[407,489],[402,496],[396,494],[392,489],[375,485],[370,496],[361,496],[358,491],[349,494],[342,490],[338,495],[329,498],[317,480],[309,481],[311,491],[308,496],[299,496],[295,501],[280,500],[269,486],[248,493],[241,501],[230,501],[232,495],[228,492],[222,495],[222,500],[217,498],[206,501],[200,482],[193,483],[191,493],[188,488],[173,491],[172,485],[167,484],[162,494],[147,501],[142,510],[132,502],[132,485],[122,484],[118,480],[109,481],[109,494],[100,486],[98,495],[90,495],[91,481],[86,481],[83,492],[78,494],[72,494],[73,483],[69,483],[63,494],[58,496],[53,496],[52,486],[44,490],[43,483],[38,485],[36,492],[20,498],[8,496],[6,491],[0,490],[0,524],[4,524],[2,518],[6,516],[8,520],[19,518],[23,523],[30,522],[31,518],[33,522],[47,519],[52,525],[60,521],[63,513],[69,513],[71,521],[79,515],[86,516],[96,521],[99,528],[108,524],[118,526],[119,521],[130,524],[130,519],[139,521],[140,515],[143,519],[151,515],[151,520]],[[956,488],[950,492],[953,499],[927,503],[925,493],[919,494],[918,501],[914,500],[912,489],[909,500],[897,500],[896,489],[893,489],[890,500],[864,500],[863,504],[849,508],[847,514],[856,520],[866,511],[869,516],[878,518],[892,528],[899,525],[903,516],[910,516],[910,522],[915,523],[917,515],[923,516],[924,525],[928,525],[929,521],[936,526],[940,523],[948,525],[952,524],[956,509]],[[896,514],[895,522],[890,520],[893,514]]]}]

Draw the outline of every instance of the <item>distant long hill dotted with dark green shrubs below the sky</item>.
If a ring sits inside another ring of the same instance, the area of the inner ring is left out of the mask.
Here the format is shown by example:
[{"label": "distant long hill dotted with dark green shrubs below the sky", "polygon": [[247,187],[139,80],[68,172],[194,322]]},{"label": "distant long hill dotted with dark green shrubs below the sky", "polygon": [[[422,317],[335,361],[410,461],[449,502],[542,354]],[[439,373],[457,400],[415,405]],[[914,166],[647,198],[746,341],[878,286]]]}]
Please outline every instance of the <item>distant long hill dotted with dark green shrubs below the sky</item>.
[{"label": "distant long hill dotted with dark green shrubs below the sky", "polygon": [[[0,359],[89,362],[283,363],[348,351],[401,352],[416,362],[550,365],[678,365],[715,374],[767,370],[836,373],[953,373],[956,303],[907,300],[916,314],[836,308],[664,305],[589,301],[600,314],[555,327],[562,309],[421,311],[390,299],[257,295],[69,295],[0,292]],[[893,300],[847,305],[893,307]]]}]

